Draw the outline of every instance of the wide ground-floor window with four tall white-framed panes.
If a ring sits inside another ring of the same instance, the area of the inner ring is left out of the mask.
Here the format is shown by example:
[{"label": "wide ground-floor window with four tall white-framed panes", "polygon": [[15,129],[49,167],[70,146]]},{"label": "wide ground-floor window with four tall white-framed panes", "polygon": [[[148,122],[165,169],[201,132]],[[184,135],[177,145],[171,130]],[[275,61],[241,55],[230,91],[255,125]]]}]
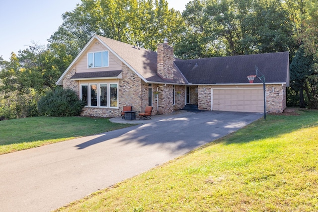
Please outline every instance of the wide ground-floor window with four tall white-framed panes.
[{"label": "wide ground-floor window with four tall white-framed panes", "polygon": [[80,87],[80,97],[86,107],[118,107],[117,83],[81,84]]}]

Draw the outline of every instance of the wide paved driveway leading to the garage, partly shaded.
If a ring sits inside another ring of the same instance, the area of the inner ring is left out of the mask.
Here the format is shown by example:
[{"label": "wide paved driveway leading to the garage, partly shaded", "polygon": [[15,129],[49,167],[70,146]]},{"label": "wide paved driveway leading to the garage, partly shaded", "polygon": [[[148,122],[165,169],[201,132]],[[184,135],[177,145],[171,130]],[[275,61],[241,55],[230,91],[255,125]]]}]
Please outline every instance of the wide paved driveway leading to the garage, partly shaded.
[{"label": "wide paved driveway leading to the garage, partly shaded", "polygon": [[52,211],[261,117],[259,113],[179,111],[129,121],[146,124],[0,155],[0,211]]}]

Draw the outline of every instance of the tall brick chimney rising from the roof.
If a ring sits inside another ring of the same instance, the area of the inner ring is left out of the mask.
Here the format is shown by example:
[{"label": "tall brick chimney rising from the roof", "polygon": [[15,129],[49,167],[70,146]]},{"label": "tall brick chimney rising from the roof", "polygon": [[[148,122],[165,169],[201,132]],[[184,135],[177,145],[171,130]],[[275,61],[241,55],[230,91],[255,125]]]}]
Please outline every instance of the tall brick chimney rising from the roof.
[{"label": "tall brick chimney rising from the roof", "polygon": [[158,74],[164,79],[173,79],[173,47],[167,42],[158,44]]}]

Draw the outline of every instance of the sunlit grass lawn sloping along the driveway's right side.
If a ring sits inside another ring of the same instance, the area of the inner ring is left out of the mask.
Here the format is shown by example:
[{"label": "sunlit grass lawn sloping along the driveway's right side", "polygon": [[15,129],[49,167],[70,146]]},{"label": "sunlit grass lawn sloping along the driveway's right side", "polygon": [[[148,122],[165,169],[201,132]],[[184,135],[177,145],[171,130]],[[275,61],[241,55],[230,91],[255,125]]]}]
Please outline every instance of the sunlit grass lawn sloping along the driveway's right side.
[{"label": "sunlit grass lawn sloping along the driveway's right side", "polygon": [[318,111],[272,116],[57,211],[318,211]]}]

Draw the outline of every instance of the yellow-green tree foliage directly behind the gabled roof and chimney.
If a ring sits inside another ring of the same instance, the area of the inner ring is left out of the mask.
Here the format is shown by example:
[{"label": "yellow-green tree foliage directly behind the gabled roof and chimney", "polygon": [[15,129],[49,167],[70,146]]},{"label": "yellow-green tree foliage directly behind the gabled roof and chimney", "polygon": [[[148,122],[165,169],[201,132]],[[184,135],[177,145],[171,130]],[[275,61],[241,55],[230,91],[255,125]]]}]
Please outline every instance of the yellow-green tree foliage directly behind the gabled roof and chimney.
[{"label": "yellow-green tree foliage directly behind the gabled roof and chimney", "polygon": [[62,16],[51,45],[64,45],[76,57],[94,34],[155,51],[158,41],[179,42],[184,22],[166,0],[83,0]]}]

